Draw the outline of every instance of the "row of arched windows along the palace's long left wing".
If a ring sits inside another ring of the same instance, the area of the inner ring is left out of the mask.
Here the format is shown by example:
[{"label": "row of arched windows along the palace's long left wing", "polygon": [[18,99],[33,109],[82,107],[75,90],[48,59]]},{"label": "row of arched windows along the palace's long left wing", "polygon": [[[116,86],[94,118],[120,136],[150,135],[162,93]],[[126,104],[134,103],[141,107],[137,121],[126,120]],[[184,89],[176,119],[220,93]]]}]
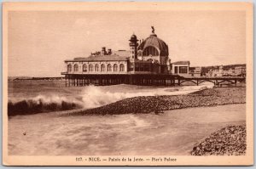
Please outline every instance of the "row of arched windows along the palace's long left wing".
[{"label": "row of arched windows along the palace's long left wing", "polygon": [[[67,72],[71,72],[73,68],[74,72],[78,72],[79,71],[79,65],[75,64],[75,65],[67,65]],[[107,71],[125,71],[125,65],[124,64],[120,64],[119,66],[117,64],[114,64],[113,66],[111,64],[107,65]],[[106,65],[102,64],[101,66],[96,64],[94,65],[83,65],[83,71],[106,71]]]}]

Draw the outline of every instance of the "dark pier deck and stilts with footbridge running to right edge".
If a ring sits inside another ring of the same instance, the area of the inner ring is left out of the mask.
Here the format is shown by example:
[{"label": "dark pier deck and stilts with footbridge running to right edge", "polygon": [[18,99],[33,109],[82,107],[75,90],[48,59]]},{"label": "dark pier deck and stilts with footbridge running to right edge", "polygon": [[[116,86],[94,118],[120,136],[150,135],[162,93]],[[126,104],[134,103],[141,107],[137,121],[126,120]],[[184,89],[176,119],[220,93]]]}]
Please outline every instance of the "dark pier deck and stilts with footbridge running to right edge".
[{"label": "dark pier deck and stilts with footbridge running to right edge", "polygon": [[236,87],[238,82],[246,82],[245,77],[241,76],[218,76],[218,77],[183,77],[170,74],[67,74],[65,75],[66,87],[87,85],[107,86],[116,84],[131,84],[141,86],[175,86],[182,85],[186,82],[200,85],[202,82],[212,82],[215,86]]}]

